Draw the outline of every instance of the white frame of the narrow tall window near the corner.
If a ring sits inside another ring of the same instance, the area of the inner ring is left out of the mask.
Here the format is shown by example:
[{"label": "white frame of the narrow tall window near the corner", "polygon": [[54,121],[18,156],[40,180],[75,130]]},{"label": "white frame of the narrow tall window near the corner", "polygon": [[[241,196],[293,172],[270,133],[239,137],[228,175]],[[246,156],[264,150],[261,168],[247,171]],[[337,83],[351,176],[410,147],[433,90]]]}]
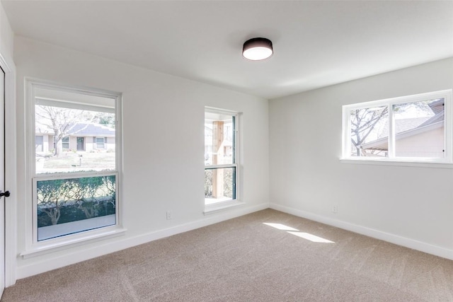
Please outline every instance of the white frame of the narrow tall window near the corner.
[{"label": "white frame of the narrow tall window near the corner", "polygon": [[[234,173],[234,193],[233,193],[233,198],[228,199],[225,201],[220,201],[220,202],[214,202],[212,204],[206,204],[205,205],[205,211],[203,212],[205,215],[206,214],[211,214],[216,211],[220,211],[223,209],[228,209],[230,207],[236,207],[239,205],[242,205],[243,202],[241,201],[241,192],[242,192],[242,186],[240,182],[240,127],[241,127],[241,112],[236,112],[232,110],[225,110],[225,109],[220,109],[220,108],[212,108],[212,107],[205,107],[204,113],[206,114],[207,112],[209,113],[215,113],[219,115],[229,115],[233,117],[234,125],[233,125],[233,139],[232,139],[232,144],[233,144],[233,151],[231,153],[232,158],[234,158],[234,163],[226,163],[226,164],[220,164],[220,165],[206,165],[205,163],[205,170],[216,170],[216,169],[222,169],[222,168],[234,168],[235,173]],[[203,125],[205,124],[205,114],[203,115]],[[204,129],[204,127],[203,127]],[[203,144],[205,144],[205,141],[203,141]],[[206,199],[205,199],[206,200]]]}]

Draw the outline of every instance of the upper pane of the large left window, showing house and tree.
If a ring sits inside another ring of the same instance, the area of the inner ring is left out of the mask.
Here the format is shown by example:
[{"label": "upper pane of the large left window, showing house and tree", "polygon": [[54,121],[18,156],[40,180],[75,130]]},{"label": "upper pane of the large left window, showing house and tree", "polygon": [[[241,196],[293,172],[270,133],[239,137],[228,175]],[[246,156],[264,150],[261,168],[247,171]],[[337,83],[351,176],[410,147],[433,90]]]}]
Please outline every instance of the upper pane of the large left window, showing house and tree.
[{"label": "upper pane of the large left window, showing house and tree", "polygon": [[77,98],[81,105],[36,97],[35,136],[42,137],[35,151],[36,174],[116,169],[115,99]]}]

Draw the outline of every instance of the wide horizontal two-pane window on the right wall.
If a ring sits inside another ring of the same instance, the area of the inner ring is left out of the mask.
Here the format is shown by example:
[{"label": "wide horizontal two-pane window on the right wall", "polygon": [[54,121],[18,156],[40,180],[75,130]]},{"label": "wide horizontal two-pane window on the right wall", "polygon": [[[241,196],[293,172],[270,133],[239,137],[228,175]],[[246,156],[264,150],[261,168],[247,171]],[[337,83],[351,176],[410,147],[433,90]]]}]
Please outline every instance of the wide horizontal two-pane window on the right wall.
[{"label": "wide horizontal two-pane window on the right wall", "polygon": [[452,91],[343,106],[343,158],[452,163]]}]

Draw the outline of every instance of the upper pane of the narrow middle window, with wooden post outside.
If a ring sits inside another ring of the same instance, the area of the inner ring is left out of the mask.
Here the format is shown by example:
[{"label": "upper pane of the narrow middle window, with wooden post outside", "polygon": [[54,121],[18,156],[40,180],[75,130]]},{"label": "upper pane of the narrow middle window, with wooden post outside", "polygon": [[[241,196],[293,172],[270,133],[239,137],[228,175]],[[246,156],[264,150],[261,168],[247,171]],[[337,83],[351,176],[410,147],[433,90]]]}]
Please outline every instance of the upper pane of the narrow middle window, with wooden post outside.
[{"label": "upper pane of the narrow middle window, with wooden post outside", "polygon": [[235,163],[234,134],[234,116],[205,113],[205,165]]}]

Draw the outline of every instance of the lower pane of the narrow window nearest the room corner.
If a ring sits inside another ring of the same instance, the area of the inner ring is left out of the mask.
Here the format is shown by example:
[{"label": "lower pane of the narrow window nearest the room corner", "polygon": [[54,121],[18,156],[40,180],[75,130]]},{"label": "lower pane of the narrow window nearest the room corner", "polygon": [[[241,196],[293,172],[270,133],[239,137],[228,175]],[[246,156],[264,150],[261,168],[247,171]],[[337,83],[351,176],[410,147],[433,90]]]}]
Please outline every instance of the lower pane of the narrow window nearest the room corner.
[{"label": "lower pane of the narrow window nearest the room corner", "polygon": [[205,169],[205,204],[236,199],[236,168]]}]

